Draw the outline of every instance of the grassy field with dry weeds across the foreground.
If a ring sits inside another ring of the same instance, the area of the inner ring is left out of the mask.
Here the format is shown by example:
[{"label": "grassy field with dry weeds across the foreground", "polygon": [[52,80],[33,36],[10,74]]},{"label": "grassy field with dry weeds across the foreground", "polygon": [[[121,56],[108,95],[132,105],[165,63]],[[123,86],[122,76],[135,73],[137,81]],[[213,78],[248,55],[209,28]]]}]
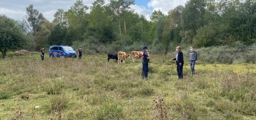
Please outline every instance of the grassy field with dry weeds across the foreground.
[{"label": "grassy field with dry weeds across the foreground", "polygon": [[[255,64],[188,62],[184,79],[168,56],[118,64],[107,54],[78,58],[0,59],[0,119],[8,120],[255,120]],[[170,73],[172,71],[172,73]]]}]

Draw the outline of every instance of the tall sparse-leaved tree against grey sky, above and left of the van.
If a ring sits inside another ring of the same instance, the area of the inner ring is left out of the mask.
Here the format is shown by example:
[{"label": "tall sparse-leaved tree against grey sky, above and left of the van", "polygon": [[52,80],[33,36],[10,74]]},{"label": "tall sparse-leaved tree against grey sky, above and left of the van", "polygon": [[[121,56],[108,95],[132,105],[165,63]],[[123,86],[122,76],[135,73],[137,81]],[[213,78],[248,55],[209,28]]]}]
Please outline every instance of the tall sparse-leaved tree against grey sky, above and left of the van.
[{"label": "tall sparse-leaved tree against grey sky, above and left of the van", "polygon": [[42,24],[45,22],[45,18],[42,13],[39,13],[37,9],[34,9],[33,4],[26,7],[26,26],[28,30],[32,32],[33,36],[36,36],[36,32],[41,30]]}]

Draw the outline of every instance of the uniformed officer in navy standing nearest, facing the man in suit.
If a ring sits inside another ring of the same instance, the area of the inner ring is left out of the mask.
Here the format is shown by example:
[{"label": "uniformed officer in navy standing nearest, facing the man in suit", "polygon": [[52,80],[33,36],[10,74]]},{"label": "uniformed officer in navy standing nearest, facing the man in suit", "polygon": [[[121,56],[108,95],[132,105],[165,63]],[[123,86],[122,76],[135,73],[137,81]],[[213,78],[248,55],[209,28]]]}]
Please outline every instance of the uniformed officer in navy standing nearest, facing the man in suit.
[{"label": "uniformed officer in navy standing nearest, facing the man in suit", "polygon": [[148,62],[149,62],[149,59],[150,57],[148,57],[148,47],[147,46],[144,46],[143,47],[143,51],[141,53],[141,56],[142,56],[142,78],[148,80]]}]

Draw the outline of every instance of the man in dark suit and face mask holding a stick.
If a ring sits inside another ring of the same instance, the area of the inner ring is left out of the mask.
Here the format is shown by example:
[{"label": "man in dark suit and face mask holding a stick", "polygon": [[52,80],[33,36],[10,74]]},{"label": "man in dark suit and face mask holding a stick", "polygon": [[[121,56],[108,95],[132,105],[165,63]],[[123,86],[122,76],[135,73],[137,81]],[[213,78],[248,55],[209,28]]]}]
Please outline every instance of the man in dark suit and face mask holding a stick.
[{"label": "man in dark suit and face mask holding a stick", "polygon": [[176,60],[176,65],[177,65],[177,73],[178,73],[178,79],[183,79],[183,53],[180,51],[180,46],[176,47],[176,58],[172,58],[172,60]]}]

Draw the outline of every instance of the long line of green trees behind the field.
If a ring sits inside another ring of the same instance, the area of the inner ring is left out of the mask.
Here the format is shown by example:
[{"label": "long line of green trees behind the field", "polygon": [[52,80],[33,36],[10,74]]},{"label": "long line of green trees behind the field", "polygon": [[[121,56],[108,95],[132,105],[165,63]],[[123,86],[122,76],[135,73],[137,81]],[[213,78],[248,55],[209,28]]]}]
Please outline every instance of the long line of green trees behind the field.
[{"label": "long line of green trees behind the field", "polygon": [[92,6],[82,2],[76,0],[67,11],[58,9],[52,22],[33,4],[26,7],[22,20],[0,15],[3,56],[7,49],[35,51],[41,46],[88,41],[91,45],[139,43],[166,52],[171,44],[201,48],[256,41],[256,0],[188,0],[167,15],[154,10],[150,20],[134,12],[134,0],[110,0],[108,4],[95,0]]}]

